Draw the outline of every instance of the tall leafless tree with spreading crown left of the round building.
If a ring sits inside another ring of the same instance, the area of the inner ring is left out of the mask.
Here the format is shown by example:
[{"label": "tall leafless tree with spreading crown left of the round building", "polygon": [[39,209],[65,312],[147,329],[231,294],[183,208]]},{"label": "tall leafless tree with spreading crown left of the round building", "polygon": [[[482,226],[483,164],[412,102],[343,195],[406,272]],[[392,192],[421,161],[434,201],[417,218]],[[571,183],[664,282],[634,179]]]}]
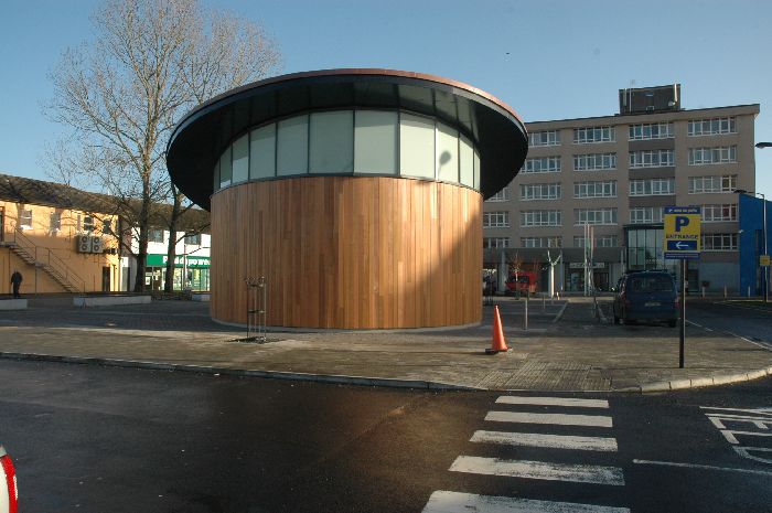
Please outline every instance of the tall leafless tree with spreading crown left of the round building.
[{"label": "tall leafless tree with spreading crown left of the round building", "polygon": [[96,40],[67,50],[51,74],[47,114],[71,128],[68,146],[82,158],[60,161],[57,174],[79,163],[130,205],[141,291],[152,205],[175,203],[163,153],[174,125],[199,103],[267,76],[280,54],[259,25],[204,12],[196,0],[108,0],[93,23]]}]

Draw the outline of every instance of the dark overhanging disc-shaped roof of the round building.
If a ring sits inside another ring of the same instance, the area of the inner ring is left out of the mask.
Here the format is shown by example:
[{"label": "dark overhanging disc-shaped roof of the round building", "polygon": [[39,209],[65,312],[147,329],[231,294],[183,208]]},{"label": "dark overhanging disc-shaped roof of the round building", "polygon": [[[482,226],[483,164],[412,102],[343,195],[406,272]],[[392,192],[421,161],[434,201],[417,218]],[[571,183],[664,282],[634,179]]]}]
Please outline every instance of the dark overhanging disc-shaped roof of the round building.
[{"label": "dark overhanging disc-shaped roof of the round building", "polygon": [[484,199],[512,181],[528,151],[514,109],[475,87],[412,72],[325,70],[255,82],[200,105],[169,139],[169,173],[187,197],[208,210],[215,163],[237,137],[274,119],[353,107],[399,108],[457,127],[479,149]]}]

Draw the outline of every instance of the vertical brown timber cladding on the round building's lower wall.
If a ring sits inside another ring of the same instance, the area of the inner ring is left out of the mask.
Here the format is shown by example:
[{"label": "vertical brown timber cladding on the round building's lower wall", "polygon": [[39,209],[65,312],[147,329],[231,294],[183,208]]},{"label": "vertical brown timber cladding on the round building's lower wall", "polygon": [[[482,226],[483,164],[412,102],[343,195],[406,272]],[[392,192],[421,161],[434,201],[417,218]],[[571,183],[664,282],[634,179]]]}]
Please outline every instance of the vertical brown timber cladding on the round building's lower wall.
[{"label": "vertical brown timber cladding on the round building's lower wall", "polygon": [[387,329],[482,316],[482,196],[388,177],[249,182],[212,196],[212,317],[246,324],[265,276],[267,324]]}]

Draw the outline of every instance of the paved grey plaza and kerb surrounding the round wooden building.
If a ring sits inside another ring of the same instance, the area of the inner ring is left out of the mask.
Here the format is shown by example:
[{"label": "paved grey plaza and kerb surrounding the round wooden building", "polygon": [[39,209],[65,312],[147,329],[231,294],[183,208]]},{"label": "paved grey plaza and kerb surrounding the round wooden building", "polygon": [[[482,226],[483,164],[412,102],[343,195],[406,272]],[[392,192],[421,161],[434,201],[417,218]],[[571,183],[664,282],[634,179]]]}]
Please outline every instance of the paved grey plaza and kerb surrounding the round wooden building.
[{"label": "paved grey plaza and kerb surrounding the round wooden building", "polygon": [[[596,316],[591,299],[496,298],[508,353],[486,355],[492,307],[480,327],[399,332],[271,331],[262,344],[208,318],[194,301],[75,308],[72,297],[28,297],[0,312],[0,356],[233,373],[288,380],[450,389],[663,392],[772,375],[772,351],[687,328],[621,327]],[[609,308],[601,301],[601,311]]]}]

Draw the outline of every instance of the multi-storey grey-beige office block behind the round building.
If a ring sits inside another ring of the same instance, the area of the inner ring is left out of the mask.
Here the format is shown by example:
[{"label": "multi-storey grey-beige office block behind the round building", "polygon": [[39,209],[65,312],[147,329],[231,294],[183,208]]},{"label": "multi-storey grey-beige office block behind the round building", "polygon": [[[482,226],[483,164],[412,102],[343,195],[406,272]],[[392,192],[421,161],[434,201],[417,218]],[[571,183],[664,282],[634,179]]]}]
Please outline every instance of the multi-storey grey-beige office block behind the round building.
[{"label": "multi-storey grey-beige office block behind the round building", "polygon": [[682,109],[679,85],[619,99],[616,115],[526,124],[523,168],[484,205],[485,268],[500,289],[517,268],[547,290],[551,260],[555,290],[573,292],[608,290],[626,269],[675,272],[679,261],[663,258],[663,207],[697,205],[703,253],[688,264],[689,288],[737,292],[735,191],[755,186],[759,105]]}]

